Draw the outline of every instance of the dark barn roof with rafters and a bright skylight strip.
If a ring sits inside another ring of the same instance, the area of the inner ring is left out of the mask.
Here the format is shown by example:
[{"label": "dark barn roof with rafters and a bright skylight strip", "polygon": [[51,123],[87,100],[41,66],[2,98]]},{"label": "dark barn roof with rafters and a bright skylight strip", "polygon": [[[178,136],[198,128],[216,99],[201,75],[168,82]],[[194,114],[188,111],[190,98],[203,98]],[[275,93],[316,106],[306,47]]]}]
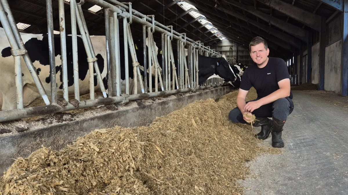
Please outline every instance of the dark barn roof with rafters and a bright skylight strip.
[{"label": "dark barn roof with rafters and a bright skylight strip", "polygon": [[[64,1],[66,30],[70,33],[69,0]],[[112,3],[112,0],[105,1]],[[214,45],[223,38],[247,46],[252,37],[262,36],[269,41],[270,48],[280,53],[292,53],[294,48],[299,47],[301,40],[306,42],[309,32],[320,31],[318,21],[321,22],[322,18],[330,20],[342,11],[343,5],[343,0],[120,0],[120,2],[132,2],[133,9],[145,15],[155,15],[156,21],[164,25],[173,25],[173,30],[187,33],[188,37],[200,40],[206,46]],[[191,7],[188,7],[187,3]],[[16,22],[21,23],[17,25],[21,31],[47,33],[46,0],[11,0],[9,5]],[[103,9],[87,0],[82,9],[90,34],[104,35]],[[197,14],[204,17],[197,20]],[[58,0],[53,0],[53,20],[54,30],[58,31]],[[135,38],[141,37],[141,25],[133,23],[132,31]],[[155,33],[154,37],[160,43],[160,34]]]}]

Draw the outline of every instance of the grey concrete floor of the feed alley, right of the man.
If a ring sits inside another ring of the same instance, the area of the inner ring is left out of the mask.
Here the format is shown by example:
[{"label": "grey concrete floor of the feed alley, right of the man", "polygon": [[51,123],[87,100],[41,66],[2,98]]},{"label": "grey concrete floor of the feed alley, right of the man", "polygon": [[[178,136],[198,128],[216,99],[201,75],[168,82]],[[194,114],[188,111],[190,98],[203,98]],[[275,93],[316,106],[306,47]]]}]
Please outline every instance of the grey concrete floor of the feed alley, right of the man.
[{"label": "grey concrete floor of the feed alley, right of the man", "polygon": [[[251,173],[239,184],[247,195],[348,194],[348,97],[292,92],[295,109],[284,126],[283,153],[250,162]],[[270,146],[271,136],[262,144]]]}]

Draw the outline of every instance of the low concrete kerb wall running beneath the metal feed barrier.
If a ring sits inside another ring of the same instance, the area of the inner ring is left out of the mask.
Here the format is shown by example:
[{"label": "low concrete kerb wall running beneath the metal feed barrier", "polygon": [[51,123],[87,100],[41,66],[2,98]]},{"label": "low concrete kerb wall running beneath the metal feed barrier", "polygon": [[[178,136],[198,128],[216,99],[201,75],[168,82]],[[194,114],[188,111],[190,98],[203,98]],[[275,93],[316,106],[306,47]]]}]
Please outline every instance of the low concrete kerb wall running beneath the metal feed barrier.
[{"label": "low concrete kerb wall running beneath the metal feed barrier", "polygon": [[[153,119],[169,114],[185,105],[208,98],[219,99],[224,94],[231,92],[231,85],[216,87],[212,89],[197,90],[195,92],[174,94],[177,98],[151,98],[149,100],[136,101],[138,106],[129,108],[121,107],[116,111],[102,112],[96,110],[92,115],[82,118],[78,116],[73,121],[61,123],[49,123],[43,121],[36,123],[29,130],[21,133],[0,134],[0,176],[18,157],[28,157],[33,151],[41,146],[60,150],[71,144],[78,137],[94,131],[96,128],[111,128],[116,125],[122,127],[135,127],[148,125]],[[135,102],[134,102],[135,103]],[[136,104],[136,103],[135,103]],[[130,120],[134,118],[134,120]]]}]

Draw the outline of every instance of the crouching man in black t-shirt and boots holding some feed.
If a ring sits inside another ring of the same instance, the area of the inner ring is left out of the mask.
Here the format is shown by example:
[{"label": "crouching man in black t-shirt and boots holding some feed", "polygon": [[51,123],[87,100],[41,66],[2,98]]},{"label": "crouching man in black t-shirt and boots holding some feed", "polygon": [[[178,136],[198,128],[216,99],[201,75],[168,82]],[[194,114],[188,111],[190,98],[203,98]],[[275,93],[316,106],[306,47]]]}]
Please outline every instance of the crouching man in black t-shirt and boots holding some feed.
[{"label": "crouching man in black t-shirt and boots holding some feed", "polygon": [[[294,109],[287,66],[283,59],[268,57],[267,42],[261,37],[252,39],[249,50],[255,64],[243,73],[237,96],[238,107],[230,111],[229,119],[235,123],[249,124],[247,121],[251,119],[243,115],[255,115],[253,126],[261,126],[260,133],[255,137],[267,139],[271,133],[272,146],[282,148],[283,126]],[[251,87],[256,89],[258,97],[245,102]],[[272,117],[272,120],[268,117]]]}]

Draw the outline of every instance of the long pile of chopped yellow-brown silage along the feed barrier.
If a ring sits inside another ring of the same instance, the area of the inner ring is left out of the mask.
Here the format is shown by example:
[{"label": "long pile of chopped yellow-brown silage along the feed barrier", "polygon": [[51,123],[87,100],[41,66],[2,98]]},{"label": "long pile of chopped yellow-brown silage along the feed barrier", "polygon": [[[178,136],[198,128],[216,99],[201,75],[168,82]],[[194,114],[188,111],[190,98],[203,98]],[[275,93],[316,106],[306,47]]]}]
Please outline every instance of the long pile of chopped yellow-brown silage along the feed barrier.
[{"label": "long pile of chopped yellow-brown silage along the feed barrier", "polygon": [[245,162],[279,150],[258,146],[251,126],[229,122],[237,93],[193,102],[149,127],[96,130],[60,151],[43,147],[16,160],[0,194],[242,194],[236,180],[248,174]]}]

